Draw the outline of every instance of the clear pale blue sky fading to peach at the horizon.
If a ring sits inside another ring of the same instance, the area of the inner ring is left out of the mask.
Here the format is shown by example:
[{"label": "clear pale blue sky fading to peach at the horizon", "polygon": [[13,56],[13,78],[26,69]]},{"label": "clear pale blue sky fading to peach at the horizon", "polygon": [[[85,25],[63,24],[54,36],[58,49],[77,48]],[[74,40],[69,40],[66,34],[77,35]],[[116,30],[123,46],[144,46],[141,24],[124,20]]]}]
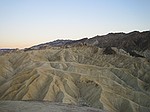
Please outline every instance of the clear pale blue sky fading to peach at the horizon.
[{"label": "clear pale blue sky fading to peach at the horizon", "polygon": [[0,48],[150,30],[150,0],[0,0]]}]

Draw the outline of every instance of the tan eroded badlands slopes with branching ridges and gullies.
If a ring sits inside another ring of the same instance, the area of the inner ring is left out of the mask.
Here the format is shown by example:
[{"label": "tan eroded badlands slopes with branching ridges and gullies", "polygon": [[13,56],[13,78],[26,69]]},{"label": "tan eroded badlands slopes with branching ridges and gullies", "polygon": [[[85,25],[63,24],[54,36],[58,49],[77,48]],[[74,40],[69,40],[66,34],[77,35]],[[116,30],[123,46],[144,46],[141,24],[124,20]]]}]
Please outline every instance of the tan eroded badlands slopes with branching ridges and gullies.
[{"label": "tan eroded badlands slopes with branching ridges and gullies", "polygon": [[0,100],[48,100],[110,112],[150,111],[150,63],[78,46],[0,56]]}]

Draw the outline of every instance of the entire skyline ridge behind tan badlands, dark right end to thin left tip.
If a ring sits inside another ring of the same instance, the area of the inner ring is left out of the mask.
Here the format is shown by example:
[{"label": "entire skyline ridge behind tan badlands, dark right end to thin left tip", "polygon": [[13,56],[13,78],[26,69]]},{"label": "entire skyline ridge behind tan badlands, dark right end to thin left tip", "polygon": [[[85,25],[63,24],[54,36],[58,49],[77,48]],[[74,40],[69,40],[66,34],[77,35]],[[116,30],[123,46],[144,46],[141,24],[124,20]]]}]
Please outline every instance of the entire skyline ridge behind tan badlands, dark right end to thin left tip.
[{"label": "entire skyline ridge behind tan badlands, dark right end to thin left tip", "polygon": [[92,38],[83,38],[80,40],[56,40],[44,44],[32,46],[30,49],[40,49],[44,46],[63,47],[75,45],[91,45],[100,48],[117,47],[126,51],[144,51],[150,50],[150,31],[133,31],[130,33],[109,33],[107,35],[95,36]]}]

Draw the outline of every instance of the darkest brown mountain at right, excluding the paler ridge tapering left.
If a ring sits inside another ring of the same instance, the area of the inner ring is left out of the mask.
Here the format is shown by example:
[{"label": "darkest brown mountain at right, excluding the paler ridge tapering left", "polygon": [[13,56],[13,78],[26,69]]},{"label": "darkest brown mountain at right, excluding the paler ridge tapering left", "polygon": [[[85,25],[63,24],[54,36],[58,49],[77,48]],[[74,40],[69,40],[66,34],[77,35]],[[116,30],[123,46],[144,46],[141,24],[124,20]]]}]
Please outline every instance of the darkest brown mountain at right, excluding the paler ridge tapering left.
[{"label": "darkest brown mountain at right, excluding the paler ridge tapering left", "polygon": [[98,41],[96,46],[104,47],[117,47],[127,51],[138,50],[144,51],[150,49],[150,31],[145,32],[130,32],[130,33],[109,33],[104,36],[96,36],[88,40],[92,44]]}]

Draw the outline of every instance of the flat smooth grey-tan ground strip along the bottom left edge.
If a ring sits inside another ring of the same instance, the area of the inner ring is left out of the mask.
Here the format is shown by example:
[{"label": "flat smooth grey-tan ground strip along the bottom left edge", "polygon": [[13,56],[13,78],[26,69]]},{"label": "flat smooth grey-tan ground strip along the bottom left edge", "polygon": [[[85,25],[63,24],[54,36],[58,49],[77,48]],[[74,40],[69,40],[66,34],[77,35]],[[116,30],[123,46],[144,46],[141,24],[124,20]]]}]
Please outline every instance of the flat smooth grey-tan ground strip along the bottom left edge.
[{"label": "flat smooth grey-tan ground strip along the bottom left edge", "polygon": [[0,101],[0,112],[105,112],[91,107],[80,107],[43,101]]}]

